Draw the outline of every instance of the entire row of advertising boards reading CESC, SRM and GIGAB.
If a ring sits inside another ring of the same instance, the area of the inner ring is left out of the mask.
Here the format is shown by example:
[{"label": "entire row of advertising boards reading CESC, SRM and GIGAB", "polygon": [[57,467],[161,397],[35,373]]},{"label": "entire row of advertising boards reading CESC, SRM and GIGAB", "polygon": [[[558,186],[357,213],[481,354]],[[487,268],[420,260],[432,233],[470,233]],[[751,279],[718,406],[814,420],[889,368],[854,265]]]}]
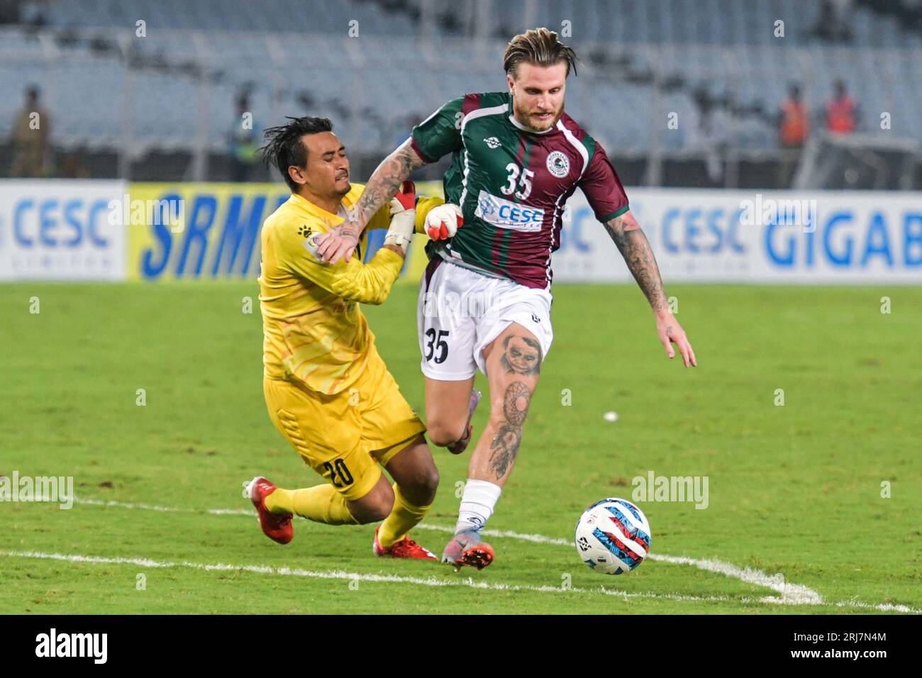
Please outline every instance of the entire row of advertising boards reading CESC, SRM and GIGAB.
[{"label": "entire row of advertising boards reading CESC, SRM and GIGAB", "polygon": [[[441,184],[417,184],[439,195]],[[0,183],[0,280],[254,280],[283,184]],[[922,282],[922,194],[633,188],[667,281]],[[380,245],[373,233],[367,256]],[[425,236],[402,280],[420,279]],[[632,280],[582,193],[564,211],[555,282]]]}]

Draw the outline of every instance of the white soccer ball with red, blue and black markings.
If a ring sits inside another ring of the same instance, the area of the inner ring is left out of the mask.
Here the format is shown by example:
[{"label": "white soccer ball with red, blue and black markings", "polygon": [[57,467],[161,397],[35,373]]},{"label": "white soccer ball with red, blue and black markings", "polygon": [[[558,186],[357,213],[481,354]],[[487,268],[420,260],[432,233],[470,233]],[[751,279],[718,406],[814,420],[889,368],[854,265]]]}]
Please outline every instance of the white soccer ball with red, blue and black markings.
[{"label": "white soccer ball with red, blue and black markings", "polygon": [[573,539],[586,565],[605,575],[621,575],[650,553],[650,523],[635,504],[609,497],[583,511]]}]

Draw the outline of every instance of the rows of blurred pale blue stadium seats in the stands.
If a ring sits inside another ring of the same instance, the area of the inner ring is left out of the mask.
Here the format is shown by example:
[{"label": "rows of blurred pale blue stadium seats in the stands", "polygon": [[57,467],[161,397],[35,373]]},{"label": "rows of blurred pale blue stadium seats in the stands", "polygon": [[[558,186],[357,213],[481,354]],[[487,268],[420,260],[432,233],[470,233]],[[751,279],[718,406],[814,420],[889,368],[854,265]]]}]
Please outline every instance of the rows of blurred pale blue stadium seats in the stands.
[{"label": "rows of blurred pale blue stadium seats in the stands", "polygon": [[[471,2],[435,6],[435,28],[444,33],[448,15],[466,21]],[[482,40],[456,33],[423,40],[411,11],[372,0],[52,0],[52,32],[41,40],[29,30],[0,30],[0,87],[15,93],[40,84],[53,137],[65,147],[130,139],[176,148],[204,139],[223,149],[246,89],[257,125],[328,114],[350,146],[383,151],[406,136],[412,118],[444,101],[503,89],[505,39],[526,21],[558,29],[569,21],[567,40],[584,65],[568,85],[568,110],[613,151],[642,153],[655,134],[667,152],[682,149],[686,130],[666,130],[665,115],[688,119],[699,87],[773,113],[788,83],[799,81],[819,112],[837,78],[862,105],[863,131],[883,134],[878,119],[886,111],[900,136],[922,141],[922,38],[863,7],[853,10],[848,46],[811,36],[814,18],[799,0],[493,0],[491,9]],[[144,38],[135,37],[138,19],[147,24]],[[358,38],[348,34],[353,19]],[[784,39],[774,37],[777,19],[785,21]],[[77,43],[62,46],[57,39],[72,27],[83,27]],[[92,47],[91,36],[110,48]],[[597,52],[609,61],[592,63]],[[644,72],[678,85],[657,97]],[[0,129],[20,105],[18,94],[0,98]],[[727,139],[740,149],[774,149],[770,119],[727,121]]]}]

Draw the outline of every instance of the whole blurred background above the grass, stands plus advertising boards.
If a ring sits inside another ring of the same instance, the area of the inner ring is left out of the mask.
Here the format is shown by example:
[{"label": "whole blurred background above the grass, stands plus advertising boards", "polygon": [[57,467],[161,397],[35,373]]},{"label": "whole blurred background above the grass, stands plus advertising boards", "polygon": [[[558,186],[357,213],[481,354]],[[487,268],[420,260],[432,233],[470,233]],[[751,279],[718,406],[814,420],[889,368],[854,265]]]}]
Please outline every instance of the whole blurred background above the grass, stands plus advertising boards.
[{"label": "whole blurred background above the grass, stands plus advertising boards", "polygon": [[[505,89],[535,26],[581,56],[567,111],[668,282],[922,280],[922,0],[0,0],[0,21],[0,280],[252,279],[288,196],[263,129],[330,117],[364,181],[444,101]],[[564,221],[556,280],[630,280],[581,193]]]}]

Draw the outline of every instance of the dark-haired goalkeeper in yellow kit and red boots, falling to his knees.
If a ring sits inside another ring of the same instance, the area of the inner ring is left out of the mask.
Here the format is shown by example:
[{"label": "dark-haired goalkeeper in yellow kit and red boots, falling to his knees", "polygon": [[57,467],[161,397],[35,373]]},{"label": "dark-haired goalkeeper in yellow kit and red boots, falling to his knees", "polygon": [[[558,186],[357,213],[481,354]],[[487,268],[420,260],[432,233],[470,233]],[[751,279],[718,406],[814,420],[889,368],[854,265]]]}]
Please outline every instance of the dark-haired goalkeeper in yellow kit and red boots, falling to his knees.
[{"label": "dark-haired goalkeeper in yellow kit and red boots, falling to his knees", "polygon": [[[400,273],[412,233],[441,198],[416,200],[406,182],[368,228],[387,228],[384,246],[331,266],[314,235],[341,223],[364,186],[349,184],[346,149],[326,118],[290,118],[266,130],[266,164],[278,167],[290,198],[263,225],[259,301],[264,393],[269,417],[326,482],[299,490],[262,476],[245,482],[266,535],[293,536],[292,514],[328,525],[384,520],[373,553],[435,559],[408,537],[439,483],[425,426],[400,393],[374,346],[359,303],[383,303]],[[382,475],[383,466],[394,479]]]}]

